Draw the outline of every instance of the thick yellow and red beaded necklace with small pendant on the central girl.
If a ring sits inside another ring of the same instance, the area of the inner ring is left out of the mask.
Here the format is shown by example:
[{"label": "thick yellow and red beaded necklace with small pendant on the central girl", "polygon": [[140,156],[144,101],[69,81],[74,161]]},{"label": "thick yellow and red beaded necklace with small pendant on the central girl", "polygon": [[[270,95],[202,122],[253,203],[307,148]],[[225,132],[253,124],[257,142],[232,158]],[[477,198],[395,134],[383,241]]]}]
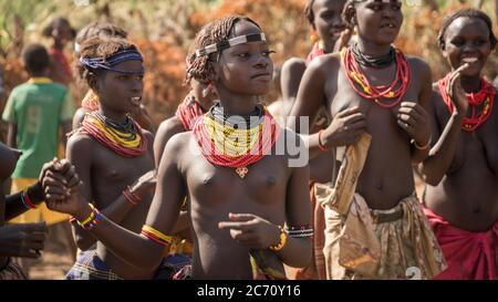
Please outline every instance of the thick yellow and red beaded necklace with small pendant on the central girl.
[{"label": "thick yellow and red beaded necklace with small pendant on the central girl", "polygon": [[240,178],[248,166],[267,155],[279,137],[273,116],[258,105],[248,117],[228,116],[214,105],[194,126],[194,135],[205,158],[217,166],[236,168]]}]

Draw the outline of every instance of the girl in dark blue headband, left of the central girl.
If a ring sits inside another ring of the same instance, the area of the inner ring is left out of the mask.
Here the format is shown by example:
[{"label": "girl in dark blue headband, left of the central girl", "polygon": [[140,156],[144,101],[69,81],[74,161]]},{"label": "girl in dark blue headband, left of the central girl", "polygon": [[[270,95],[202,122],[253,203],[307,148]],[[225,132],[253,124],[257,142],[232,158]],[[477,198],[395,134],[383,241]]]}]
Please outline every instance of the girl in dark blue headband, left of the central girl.
[{"label": "girl in dark blue headband, left of the central girl", "polygon": [[96,241],[90,230],[103,215],[139,232],[151,205],[155,187],[153,135],[129,115],[143,93],[142,54],[124,39],[93,38],[81,45],[76,67],[100,105],[97,111],[86,113],[68,143],[68,159],[83,181],[80,194],[92,202],[93,210],[84,219],[72,220],[76,244],[85,252],[66,278],[156,278],[164,271],[131,265],[102,241],[96,242],[96,250],[87,250]]}]

